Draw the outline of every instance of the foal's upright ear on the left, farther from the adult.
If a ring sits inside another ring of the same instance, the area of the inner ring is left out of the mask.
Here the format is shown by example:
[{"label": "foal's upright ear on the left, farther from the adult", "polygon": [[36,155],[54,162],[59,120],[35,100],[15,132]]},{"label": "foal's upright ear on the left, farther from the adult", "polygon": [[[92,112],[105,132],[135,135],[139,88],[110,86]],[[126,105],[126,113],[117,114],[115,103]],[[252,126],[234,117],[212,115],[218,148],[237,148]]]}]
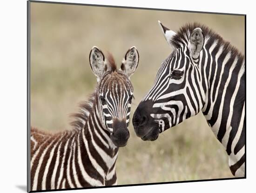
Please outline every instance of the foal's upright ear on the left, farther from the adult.
[{"label": "foal's upright ear on the left, farther from the adult", "polygon": [[89,60],[90,60],[90,66],[93,70],[93,73],[97,77],[97,81],[99,81],[104,72],[104,62],[105,62],[104,54],[101,52],[101,50],[98,47],[94,46],[90,52]]}]

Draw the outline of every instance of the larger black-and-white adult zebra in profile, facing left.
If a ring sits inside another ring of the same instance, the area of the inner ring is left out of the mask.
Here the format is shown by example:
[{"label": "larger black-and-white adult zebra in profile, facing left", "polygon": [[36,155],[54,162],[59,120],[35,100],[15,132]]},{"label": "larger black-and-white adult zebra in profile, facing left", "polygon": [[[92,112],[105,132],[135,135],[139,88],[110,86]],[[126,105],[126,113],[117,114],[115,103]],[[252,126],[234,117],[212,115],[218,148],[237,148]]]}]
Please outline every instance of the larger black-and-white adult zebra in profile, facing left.
[{"label": "larger black-and-white adult zebra in profile, facing left", "polygon": [[156,140],[202,111],[229,155],[232,174],[244,176],[244,56],[203,25],[188,24],[178,33],[159,25],[173,52],[134,113],[135,133],[142,140]]}]

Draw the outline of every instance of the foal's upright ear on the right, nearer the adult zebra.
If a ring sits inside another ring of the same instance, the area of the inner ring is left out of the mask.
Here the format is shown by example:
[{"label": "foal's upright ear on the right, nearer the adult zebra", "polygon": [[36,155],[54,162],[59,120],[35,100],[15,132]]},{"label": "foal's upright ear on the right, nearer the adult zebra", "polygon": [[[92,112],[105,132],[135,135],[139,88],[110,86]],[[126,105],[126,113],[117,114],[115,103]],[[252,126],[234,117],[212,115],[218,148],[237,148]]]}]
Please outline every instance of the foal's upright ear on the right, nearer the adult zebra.
[{"label": "foal's upright ear on the right, nearer the adult zebra", "polygon": [[139,53],[135,46],[131,47],[122,60],[121,71],[126,73],[128,77],[133,75],[139,64]]}]

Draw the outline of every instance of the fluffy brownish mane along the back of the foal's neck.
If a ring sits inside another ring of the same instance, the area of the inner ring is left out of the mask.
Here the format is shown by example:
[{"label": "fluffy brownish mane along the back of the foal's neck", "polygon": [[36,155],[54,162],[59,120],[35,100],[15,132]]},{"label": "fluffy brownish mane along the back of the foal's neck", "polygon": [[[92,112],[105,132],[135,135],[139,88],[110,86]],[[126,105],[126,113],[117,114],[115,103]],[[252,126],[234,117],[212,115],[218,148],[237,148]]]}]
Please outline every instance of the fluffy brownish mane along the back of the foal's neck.
[{"label": "fluffy brownish mane along the back of the foal's neck", "polygon": [[82,129],[84,127],[86,121],[88,120],[90,112],[93,109],[95,96],[96,91],[90,95],[88,101],[80,102],[78,112],[70,115],[70,117],[74,119],[70,122],[71,126],[73,126],[76,129]]}]

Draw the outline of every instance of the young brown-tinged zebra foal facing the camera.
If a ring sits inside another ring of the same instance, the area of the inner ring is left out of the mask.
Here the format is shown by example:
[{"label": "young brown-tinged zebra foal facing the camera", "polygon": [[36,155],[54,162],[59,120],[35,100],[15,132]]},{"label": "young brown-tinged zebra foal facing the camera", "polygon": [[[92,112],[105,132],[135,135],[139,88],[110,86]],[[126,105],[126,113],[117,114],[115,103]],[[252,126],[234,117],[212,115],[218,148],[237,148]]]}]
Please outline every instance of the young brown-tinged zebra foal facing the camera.
[{"label": "young brown-tinged zebra foal facing the camera", "polygon": [[129,138],[133,98],[129,77],[139,54],[131,47],[116,70],[113,57],[93,47],[90,65],[98,85],[88,102],[74,114],[74,129],[57,134],[31,129],[31,190],[49,190],[116,184],[118,147]]}]

